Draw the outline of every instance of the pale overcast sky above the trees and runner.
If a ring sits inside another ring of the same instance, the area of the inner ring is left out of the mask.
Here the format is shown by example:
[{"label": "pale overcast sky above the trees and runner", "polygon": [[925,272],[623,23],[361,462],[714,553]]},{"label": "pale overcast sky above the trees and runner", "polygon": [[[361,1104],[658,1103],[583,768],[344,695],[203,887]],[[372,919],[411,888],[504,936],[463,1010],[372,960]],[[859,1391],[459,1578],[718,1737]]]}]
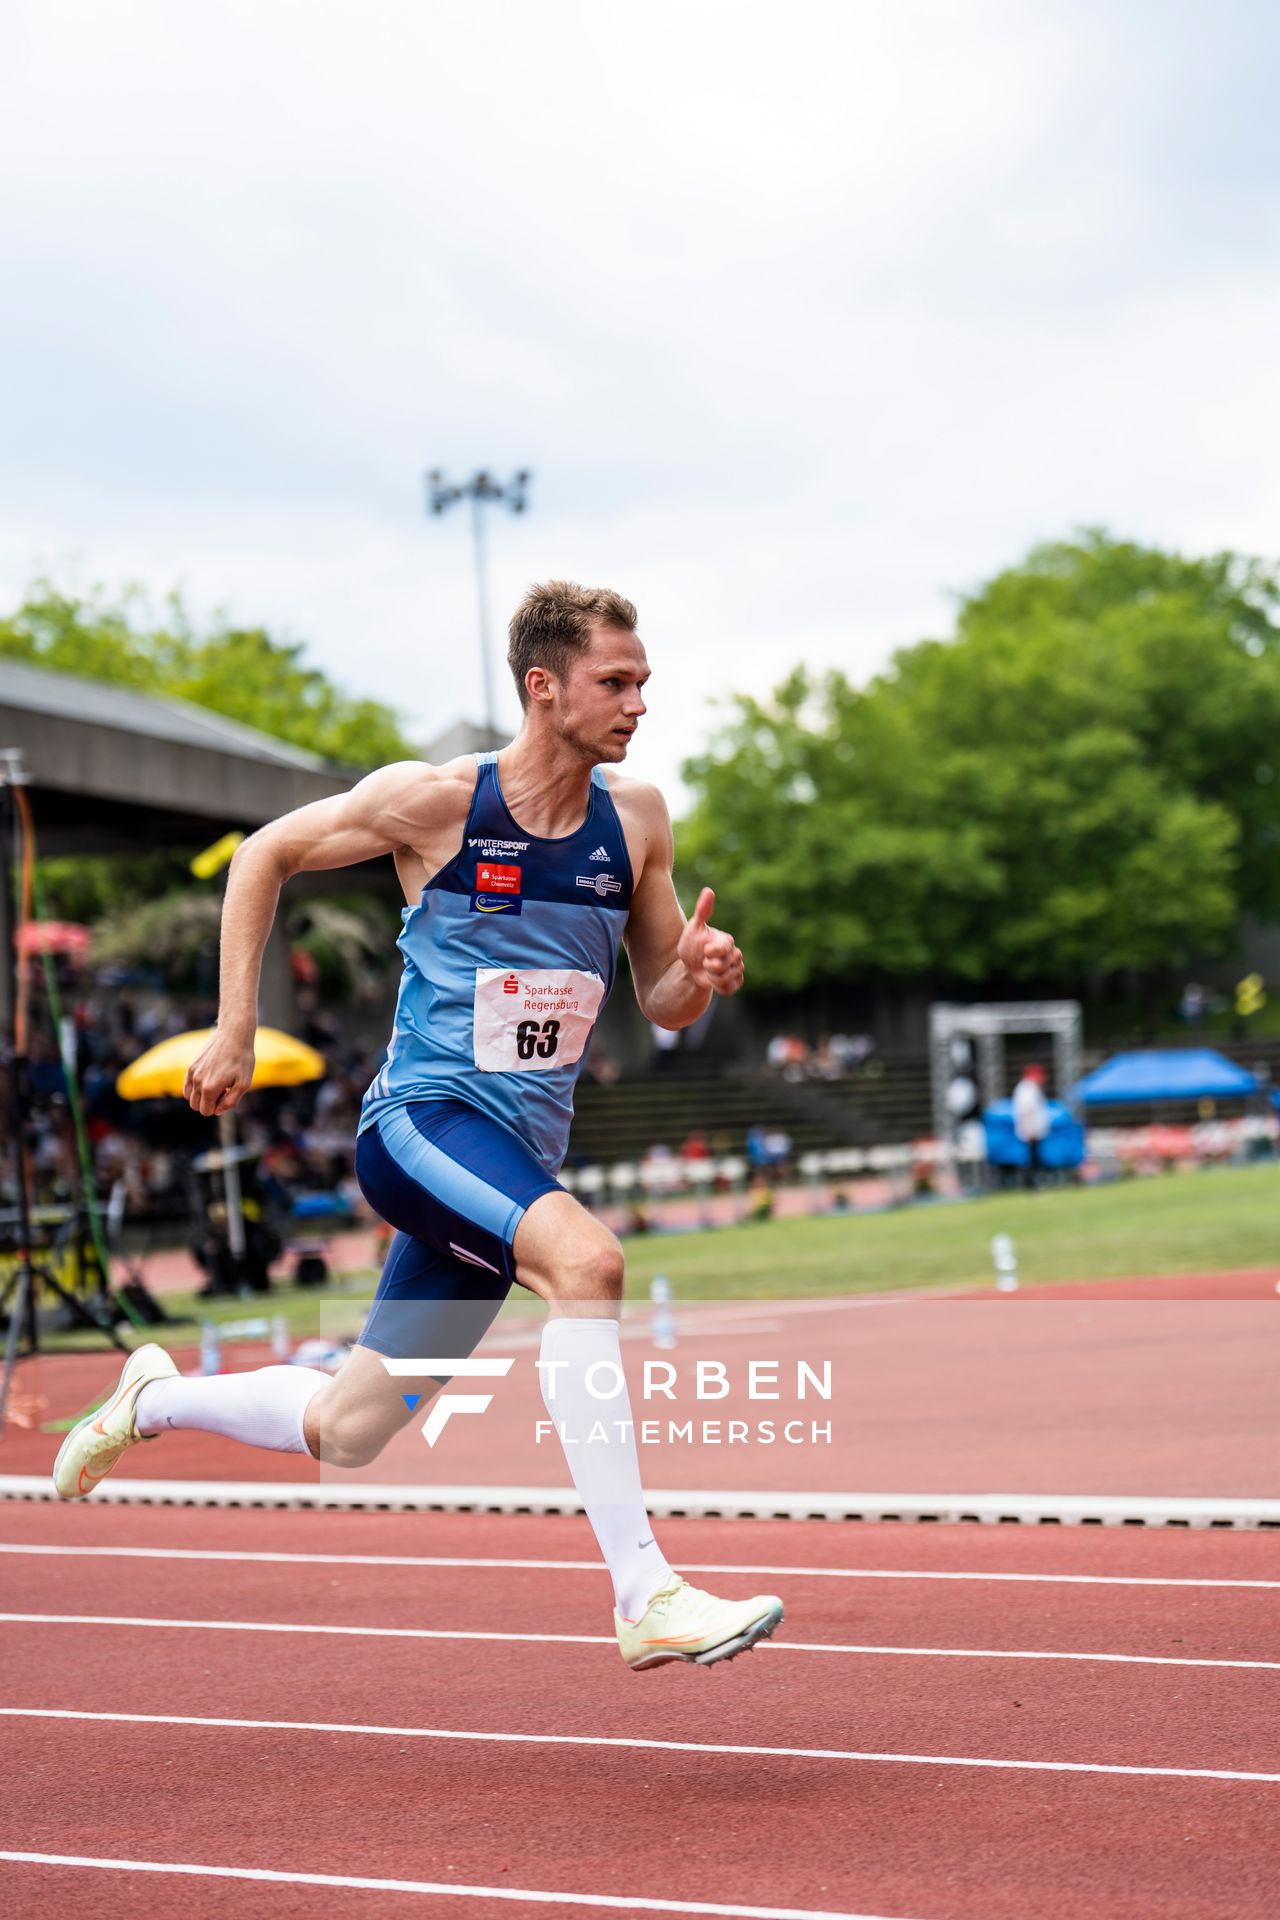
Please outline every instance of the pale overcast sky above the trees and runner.
[{"label": "pale overcast sky above the trees and runner", "polygon": [[1075,524],[1274,555],[1278,61],[1270,0],[6,0],[0,603],[180,586],[430,737],[422,470],[530,467],[493,649],[620,588],[674,783]]}]

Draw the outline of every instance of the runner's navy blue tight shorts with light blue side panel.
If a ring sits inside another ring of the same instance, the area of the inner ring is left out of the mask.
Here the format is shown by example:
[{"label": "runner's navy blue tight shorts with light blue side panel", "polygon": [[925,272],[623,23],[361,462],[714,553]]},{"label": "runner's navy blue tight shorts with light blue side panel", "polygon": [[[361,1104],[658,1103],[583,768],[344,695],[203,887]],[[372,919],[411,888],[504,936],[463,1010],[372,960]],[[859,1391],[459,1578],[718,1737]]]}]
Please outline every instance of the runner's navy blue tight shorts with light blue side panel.
[{"label": "runner's navy blue tight shorts with light blue side panel", "polygon": [[462,1100],[382,1114],[355,1142],[355,1177],[395,1227],[359,1344],[405,1359],[470,1354],[516,1277],[520,1219],[564,1188],[518,1135]]}]

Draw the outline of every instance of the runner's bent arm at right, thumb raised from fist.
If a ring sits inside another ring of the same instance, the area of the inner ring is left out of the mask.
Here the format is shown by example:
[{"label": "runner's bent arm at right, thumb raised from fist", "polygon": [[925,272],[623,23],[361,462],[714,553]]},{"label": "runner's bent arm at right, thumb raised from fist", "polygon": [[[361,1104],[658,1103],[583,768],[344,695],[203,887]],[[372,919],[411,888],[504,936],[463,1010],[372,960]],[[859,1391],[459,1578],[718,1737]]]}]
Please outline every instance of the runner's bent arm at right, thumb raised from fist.
[{"label": "runner's bent arm at right, thumb raised from fist", "polygon": [[628,797],[643,831],[641,877],[626,931],[635,998],[645,1020],[656,1027],[691,1027],[706,1012],[712,993],[739,991],[743,956],[731,933],[708,925],[716,904],[710,887],[702,887],[693,918],[685,920],[672,879],[672,816],[658,789],[633,787]]}]

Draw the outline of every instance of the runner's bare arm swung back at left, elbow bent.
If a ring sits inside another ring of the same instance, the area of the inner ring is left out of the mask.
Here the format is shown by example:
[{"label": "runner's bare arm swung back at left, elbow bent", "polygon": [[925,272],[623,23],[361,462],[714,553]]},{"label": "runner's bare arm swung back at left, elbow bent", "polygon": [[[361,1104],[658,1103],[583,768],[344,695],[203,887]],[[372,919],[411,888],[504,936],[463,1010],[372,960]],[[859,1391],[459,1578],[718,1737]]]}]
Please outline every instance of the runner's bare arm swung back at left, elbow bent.
[{"label": "runner's bare arm swung back at left, elbow bent", "polygon": [[349,793],[299,806],[236,849],[223,902],[217,1029],[182,1089],[198,1114],[225,1114],[249,1091],[259,975],[284,881],[415,845],[434,774],[422,760],[382,766]]}]

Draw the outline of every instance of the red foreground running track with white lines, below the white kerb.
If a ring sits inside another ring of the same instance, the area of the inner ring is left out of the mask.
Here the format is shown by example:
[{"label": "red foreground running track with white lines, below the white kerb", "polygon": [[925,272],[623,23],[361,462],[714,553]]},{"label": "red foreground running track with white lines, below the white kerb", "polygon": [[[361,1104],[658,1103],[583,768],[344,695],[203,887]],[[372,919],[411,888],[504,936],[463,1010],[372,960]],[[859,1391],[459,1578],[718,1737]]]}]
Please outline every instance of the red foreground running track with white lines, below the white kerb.
[{"label": "red foreground running track with white lines, below the white kerb", "polygon": [[[42,1617],[0,1622],[17,1709],[0,1851],[553,1899],[15,1862],[0,1897],[31,1920],[104,1899],[192,1920],[591,1910],[566,1895],[894,1920],[1276,1910],[1274,1536],[683,1521],[664,1538],[700,1584],[779,1590],[789,1645],[626,1672],[576,1519],[0,1507],[6,1548],[71,1549],[0,1553],[2,1611]],[[1055,1657],[1000,1657],[1036,1653]],[[1259,1665],[1163,1665],[1182,1661]]]}]

